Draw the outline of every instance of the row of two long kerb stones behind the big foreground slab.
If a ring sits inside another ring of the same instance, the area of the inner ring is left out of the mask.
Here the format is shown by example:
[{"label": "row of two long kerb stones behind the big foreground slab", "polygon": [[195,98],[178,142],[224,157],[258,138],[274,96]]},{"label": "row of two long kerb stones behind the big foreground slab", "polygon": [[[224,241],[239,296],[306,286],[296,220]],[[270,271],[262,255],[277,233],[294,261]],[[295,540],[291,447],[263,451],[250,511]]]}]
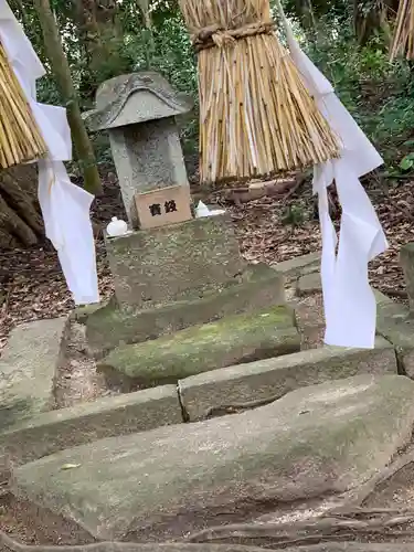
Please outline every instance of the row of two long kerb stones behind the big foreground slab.
[{"label": "row of two long kerb stones behind the big foreground slab", "polygon": [[[297,388],[361,373],[396,373],[392,346],[326,347],[223,368],[135,393],[35,414],[0,433],[0,467],[20,465],[96,439],[197,421],[210,408],[282,397]],[[180,400],[179,394],[180,392]],[[187,415],[185,415],[187,414]],[[79,431],[82,428],[82,431]]]}]

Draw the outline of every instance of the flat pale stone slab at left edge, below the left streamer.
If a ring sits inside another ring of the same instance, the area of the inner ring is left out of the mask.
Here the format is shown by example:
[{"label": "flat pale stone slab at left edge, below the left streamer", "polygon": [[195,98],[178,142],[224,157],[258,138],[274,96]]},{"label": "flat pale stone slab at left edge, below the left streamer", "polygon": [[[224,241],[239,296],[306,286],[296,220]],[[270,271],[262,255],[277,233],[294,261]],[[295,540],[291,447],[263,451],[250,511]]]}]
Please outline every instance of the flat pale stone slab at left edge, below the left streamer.
[{"label": "flat pale stone slab at left edge, below the left streamer", "polygon": [[0,431],[54,405],[66,318],[38,320],[12,330],[0,360]]}]

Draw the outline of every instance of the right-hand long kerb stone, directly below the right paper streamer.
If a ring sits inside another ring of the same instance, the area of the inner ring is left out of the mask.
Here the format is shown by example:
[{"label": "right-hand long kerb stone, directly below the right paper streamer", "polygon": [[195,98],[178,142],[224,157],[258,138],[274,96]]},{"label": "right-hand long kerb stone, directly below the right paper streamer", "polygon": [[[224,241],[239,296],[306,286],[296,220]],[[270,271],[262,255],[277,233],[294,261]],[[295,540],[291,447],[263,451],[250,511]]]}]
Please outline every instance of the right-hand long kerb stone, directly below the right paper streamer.
[{"label": "right-hand long kerb stone, directly below the right paper streamer", "polygon": [[378,338],[374,350],[322,347],[275,359],[223,368],[179,381],[191,421],[212,407],[279,399],[298,388],[359,375],[397,373],[395,351]]}]

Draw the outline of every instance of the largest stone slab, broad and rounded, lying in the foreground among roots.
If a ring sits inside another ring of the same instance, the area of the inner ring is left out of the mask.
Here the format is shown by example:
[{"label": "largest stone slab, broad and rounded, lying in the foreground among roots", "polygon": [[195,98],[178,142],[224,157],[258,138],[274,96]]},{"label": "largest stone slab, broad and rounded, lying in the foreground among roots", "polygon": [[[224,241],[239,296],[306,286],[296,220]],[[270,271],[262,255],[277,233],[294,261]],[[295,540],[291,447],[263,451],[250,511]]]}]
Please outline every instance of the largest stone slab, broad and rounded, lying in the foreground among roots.
[{"label": "largest stone slab, broad and rounded, lying in the foreground among roots", "polygon": [[[17,496],[97,539],[163,541],[257,518],[257,503],[350,490],[412,436],[414,382],[361,375],[270,405],[64,450],[14,470]],[[64,465],[77,466],[62,469]]]}]

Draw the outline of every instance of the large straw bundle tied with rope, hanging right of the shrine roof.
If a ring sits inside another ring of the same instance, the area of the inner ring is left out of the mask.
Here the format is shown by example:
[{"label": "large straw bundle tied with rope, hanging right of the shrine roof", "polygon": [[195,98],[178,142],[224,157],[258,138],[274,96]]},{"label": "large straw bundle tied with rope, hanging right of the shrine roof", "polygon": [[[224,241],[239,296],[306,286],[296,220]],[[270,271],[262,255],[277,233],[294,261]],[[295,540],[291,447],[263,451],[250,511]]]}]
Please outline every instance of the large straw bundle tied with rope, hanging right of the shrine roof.
[{"label": "large straw bundle tied with rope, hanging right of the shrine roof", "polygon": [[268,0],[179,0],[198,52],[200,178],[248,180],[338,157]]}]

